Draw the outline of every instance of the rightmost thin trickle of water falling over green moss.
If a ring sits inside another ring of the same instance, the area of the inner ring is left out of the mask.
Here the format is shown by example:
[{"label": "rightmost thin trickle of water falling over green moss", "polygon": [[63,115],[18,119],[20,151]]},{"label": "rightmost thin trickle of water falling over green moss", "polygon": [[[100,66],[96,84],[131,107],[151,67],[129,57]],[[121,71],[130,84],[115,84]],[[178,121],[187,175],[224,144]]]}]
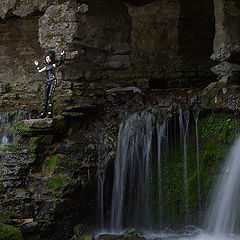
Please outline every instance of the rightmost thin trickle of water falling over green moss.
[{"label": "rightmost thin trickle of water falling over green moss", "polygon": [[197,159],[197,179],[198,179],[198,209],[201,211],[201,181],[200,181],[200,159],[199,159],[199,138],[198,138],[198,119],[200,110],[197,108],[193,111],[195,129],[196,129],[196,159]]}]

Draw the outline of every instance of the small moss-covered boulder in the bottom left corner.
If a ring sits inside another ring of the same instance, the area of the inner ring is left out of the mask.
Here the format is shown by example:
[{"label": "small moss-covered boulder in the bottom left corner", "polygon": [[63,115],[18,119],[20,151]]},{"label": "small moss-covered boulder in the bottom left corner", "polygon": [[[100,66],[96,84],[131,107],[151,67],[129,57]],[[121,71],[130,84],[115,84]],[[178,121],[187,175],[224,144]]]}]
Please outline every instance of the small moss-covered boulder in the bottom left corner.
[{"label": "small moss-covered boulder in the bottom left corner", "polygon": [[0,225],[0,240],[23,240],[20,230],[9,225]]}]

